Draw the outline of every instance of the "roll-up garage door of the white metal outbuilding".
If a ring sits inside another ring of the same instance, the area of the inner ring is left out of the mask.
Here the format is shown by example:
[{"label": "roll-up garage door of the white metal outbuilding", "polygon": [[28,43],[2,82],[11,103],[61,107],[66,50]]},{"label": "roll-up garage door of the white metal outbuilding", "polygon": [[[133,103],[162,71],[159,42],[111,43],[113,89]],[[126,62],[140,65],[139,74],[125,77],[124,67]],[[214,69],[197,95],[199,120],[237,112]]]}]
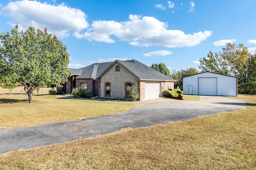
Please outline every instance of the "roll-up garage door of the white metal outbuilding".
[{"label": "roll-up garage door of the white metal outbuilding", "polygon": [[217,78],[198,78],[198,95],[217,96]]}]

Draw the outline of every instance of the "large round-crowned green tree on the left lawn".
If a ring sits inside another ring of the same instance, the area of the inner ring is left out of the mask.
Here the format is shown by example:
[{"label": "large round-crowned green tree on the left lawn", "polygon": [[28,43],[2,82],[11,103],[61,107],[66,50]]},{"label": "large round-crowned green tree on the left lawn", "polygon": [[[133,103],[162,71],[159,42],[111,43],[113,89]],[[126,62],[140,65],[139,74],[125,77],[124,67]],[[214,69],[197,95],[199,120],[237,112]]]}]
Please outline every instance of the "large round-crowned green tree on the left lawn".
[{"label": "large round-crowned green tree on the left lawn", "polygon": [[32,103],[32,92],[45,85],[60,87],[66,80],[69,55],[66,45],[47,32],[34,27],[0,33],[0,71],[24,86]]}]

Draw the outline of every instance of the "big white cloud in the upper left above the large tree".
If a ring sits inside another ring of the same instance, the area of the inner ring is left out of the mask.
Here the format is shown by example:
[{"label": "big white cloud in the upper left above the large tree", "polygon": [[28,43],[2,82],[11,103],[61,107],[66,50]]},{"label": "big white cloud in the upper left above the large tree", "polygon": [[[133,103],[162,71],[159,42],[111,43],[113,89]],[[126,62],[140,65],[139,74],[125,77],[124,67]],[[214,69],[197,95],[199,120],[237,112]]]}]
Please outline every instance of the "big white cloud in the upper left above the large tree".
[{"label": "big white cloud in the upper left above the large tree", "polygon": [[48,27],[49,32],[61,37],[69,36],[70,31],[80,32],[89,26],[84,12],[64,3],[51,5],[29,0],[14,1],[4,6],[1,13],[12,19],[8,22],[12,26],[18,23],[22,29],[30,25],[36,29]]}]

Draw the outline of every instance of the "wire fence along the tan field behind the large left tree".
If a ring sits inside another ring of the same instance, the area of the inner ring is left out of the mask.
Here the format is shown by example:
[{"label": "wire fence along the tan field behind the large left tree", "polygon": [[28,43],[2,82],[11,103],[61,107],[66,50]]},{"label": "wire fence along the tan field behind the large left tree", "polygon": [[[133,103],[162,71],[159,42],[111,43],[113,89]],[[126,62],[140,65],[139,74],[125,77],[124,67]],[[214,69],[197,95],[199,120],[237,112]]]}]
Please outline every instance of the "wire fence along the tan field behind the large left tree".
[{"label": "wire fence along the tan field behind the large left tree", "polygon": [[[52,88],[39,88],[39,92],[37,90],[33,91],[33,94],[49,94],[49,90],[52,90]],[[0,87],[0,94],[10,94],[9,89],[4,89]],[[17,87],[12,89],[12,94],[26,94],[24,87]]]}]

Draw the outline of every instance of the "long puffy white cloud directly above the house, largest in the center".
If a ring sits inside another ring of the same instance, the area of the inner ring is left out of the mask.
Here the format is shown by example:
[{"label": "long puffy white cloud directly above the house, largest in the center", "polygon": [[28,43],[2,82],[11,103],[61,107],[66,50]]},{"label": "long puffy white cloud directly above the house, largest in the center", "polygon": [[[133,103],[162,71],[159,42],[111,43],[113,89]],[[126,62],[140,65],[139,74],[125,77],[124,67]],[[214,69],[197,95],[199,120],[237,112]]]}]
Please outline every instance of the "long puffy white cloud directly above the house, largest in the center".
[{"label": "long puffy white cloud directly above the house, largest in the center", "polygon": [[77,38],[114,43],[125,41],[135,46],[186,47],[195,46],[209,37],[212,31],[185,34],[167,29],[168,24],[154,17],[130,15],[128,21],[93,21],[89,31],[75,32]]}]

